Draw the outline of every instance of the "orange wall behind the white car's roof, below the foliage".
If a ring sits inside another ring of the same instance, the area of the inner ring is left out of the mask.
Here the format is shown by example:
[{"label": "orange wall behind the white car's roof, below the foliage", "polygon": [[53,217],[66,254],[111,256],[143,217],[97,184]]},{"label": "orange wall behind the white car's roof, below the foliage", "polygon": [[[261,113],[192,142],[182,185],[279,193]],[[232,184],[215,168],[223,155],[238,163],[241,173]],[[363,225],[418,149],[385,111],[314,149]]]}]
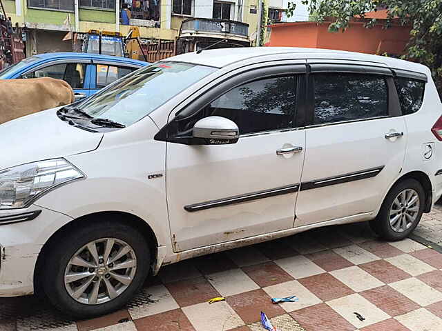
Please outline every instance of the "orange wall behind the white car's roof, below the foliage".
[{"label": "orange wall behind the white car's roof, below the foliage", "polygon": [[267,46],[327,48],[352,52],[401,54],[410,37],[410,28],[392,26],[384,29],[376,25],[364,28],[363,22],[350,23],[345,32],[329,32],[328,23],[282,23],[271,26]]}]

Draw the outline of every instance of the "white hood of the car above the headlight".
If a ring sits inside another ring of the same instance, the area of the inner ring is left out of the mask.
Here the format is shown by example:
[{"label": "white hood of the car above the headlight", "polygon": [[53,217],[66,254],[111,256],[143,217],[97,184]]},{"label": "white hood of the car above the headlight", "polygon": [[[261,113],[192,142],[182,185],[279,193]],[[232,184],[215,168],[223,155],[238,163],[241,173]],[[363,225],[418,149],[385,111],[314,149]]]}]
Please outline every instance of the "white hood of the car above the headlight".
[{"label": "white hood of the car above the headlight", "polygon": [[0,125],[0,170],[46,159],[95,150],[103,134],[61,121],[54,108]]}]

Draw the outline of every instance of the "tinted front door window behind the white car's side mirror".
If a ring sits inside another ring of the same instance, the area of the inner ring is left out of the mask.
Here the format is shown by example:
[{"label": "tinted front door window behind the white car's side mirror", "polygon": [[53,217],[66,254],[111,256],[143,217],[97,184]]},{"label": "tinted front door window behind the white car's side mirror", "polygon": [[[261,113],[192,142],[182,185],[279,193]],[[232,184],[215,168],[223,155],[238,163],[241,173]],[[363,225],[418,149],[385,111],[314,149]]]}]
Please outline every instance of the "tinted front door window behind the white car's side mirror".
[{"label": "tinted front door window behind the white car's side mirror", "polygon": [[218,97],[202,117],[234,121],[240,134],[291,128],[296,108],[295,77],[276,77],[246,83]]}]

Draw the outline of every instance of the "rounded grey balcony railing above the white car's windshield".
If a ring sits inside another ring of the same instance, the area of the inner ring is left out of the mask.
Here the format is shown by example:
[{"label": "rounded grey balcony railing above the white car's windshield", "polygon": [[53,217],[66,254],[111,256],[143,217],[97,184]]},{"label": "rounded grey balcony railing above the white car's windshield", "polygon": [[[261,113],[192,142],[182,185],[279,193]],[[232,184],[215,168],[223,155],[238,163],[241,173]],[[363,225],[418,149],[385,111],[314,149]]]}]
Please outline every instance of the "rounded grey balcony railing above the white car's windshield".
[{"label": "rounded grey balcony railing above the white car's windshield", "polygon": [[249,24],[221,19],[186,19],[182,22],[181,33],[186,32],[228,33],[248,37]]}]

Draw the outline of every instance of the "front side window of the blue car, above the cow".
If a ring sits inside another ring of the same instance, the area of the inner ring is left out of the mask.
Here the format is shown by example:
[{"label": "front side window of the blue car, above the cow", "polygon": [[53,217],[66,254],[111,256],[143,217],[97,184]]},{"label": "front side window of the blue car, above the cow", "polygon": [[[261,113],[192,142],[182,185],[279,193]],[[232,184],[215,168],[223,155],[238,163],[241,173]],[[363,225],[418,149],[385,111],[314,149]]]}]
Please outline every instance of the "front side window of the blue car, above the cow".
[{"label": "front side window of the blue car, above the cow", "polygon": [[23,74],[23,78],[51,77],[66,81],[73,89],[83,88],[86,63],[55,64]]}]

